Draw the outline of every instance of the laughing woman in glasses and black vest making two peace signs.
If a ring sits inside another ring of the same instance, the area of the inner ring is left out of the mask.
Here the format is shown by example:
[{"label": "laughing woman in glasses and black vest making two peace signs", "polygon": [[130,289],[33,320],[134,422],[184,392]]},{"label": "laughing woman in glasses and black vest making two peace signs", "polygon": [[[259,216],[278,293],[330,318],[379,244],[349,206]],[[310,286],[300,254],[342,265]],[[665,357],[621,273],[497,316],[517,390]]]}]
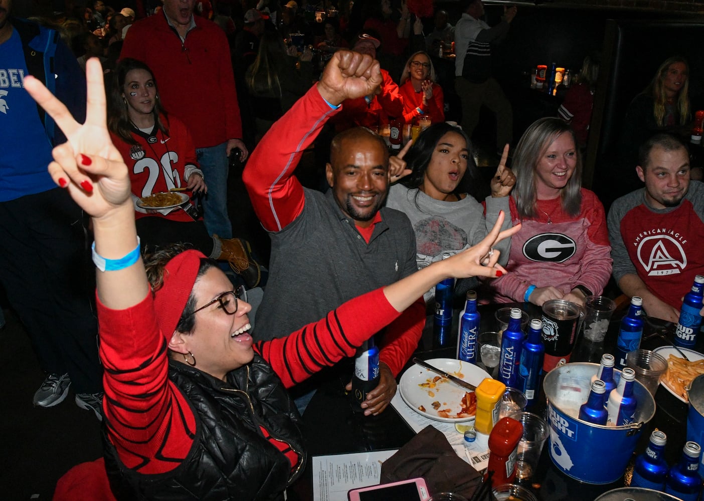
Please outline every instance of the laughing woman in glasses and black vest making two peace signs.
[{"label": "laughing woman in glasses and black vest making two peace signs", "polygon": [[[339,77],[370,60],[336,55]],[[80,125],[42,84],[25,88],[68,137],[49,173],[92,217],[105,367],[105,465],[118,499],[281,499],[306,464],[286,388],[341,357],[446,277],[496,277],[489,236],[464,253],[344,303],[291,336],[253,343],[251,309],[198,251],[139,255],[127,167],[106,129],[99,63]],[[295,300],[295,298],[291,298]],[[359,315],[360,310],[365,315]],[[59,496],[60,498],[60,496]]]}]

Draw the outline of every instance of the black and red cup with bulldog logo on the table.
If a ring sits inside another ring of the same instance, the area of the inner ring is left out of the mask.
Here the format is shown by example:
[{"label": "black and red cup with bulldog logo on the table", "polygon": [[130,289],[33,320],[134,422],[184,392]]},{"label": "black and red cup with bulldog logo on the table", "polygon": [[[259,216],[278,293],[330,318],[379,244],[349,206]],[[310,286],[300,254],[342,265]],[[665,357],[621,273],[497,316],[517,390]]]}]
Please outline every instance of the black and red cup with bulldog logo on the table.
[{"label": "black and red cup with bulldog logo on the table", "polygon": [[574,341],[584,318],[584,310],[577,304],[562,299],[543,303],[543,372],[570,362]]}]

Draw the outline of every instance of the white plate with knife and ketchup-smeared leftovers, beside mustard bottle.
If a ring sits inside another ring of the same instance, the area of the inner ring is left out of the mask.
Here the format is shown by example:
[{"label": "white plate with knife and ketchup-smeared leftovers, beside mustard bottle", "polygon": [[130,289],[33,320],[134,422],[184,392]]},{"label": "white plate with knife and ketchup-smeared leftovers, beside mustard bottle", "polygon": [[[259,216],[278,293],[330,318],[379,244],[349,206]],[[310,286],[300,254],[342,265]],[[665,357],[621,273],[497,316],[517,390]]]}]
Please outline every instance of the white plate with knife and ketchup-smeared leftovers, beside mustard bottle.
[{"label": "white plate with knife and ketchup-smeared leftovers, beside mustard bottle", "polygon": [[[478,386],[484,379],[491,377],[476,365],[453,358],[434,358],[427,360],[427,362],[474,386]],[[438,376],[438,374],[417,364],[413,364],[412,367],[403,373],[398,389],[401,391],[401,398],[408,404],[408,407],[415,410],[418,414],[435,421],[444,421],[446,423],[474,421],[474,416],[448,418],[440,417],[437,414],[437,411],[433,408],[433,402],[440,402],[440,410],[449,409],[451,414],[458,414],[462,409],[460,402],[465,396],[466,390],[445,378],[437,381],[435,388],[420,386],[422,383],[427,383],[428,380],[432,381],[435,376]],[[432,396],[429,392],[432,392]],[[421,406],[425,408],[425,411],[420,410]]]}]

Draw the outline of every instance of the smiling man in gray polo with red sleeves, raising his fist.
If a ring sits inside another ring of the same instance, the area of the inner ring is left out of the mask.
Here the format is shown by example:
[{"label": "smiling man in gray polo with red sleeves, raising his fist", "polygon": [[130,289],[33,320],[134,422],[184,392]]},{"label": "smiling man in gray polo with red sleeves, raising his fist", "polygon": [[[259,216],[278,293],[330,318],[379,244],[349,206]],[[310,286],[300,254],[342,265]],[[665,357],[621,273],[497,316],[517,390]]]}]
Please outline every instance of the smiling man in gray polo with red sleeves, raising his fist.
[{"label": "smiling man in gray polo with red sleeves, raising his fist", "polygon": [[[320,82],[271,127],[244,170],[254,210],[272,239],[256,340],[284,338],[344,301],[417,270],[408,217],[382,206],[389,190],[383,139],[361,127],[335,137],[327,194],[303,188],[293,175],[303,151],[340,103],[372,95],[382,83],[379,63],[372,61],[350,51],[335,53]],[[351,71],[355,64],[366,70]],[[419,298],[377,336],[379,384],[362,404],[365,414],[378,414],[391,402],[396,375],[417,348],[424,325],[425,303]]]}]

